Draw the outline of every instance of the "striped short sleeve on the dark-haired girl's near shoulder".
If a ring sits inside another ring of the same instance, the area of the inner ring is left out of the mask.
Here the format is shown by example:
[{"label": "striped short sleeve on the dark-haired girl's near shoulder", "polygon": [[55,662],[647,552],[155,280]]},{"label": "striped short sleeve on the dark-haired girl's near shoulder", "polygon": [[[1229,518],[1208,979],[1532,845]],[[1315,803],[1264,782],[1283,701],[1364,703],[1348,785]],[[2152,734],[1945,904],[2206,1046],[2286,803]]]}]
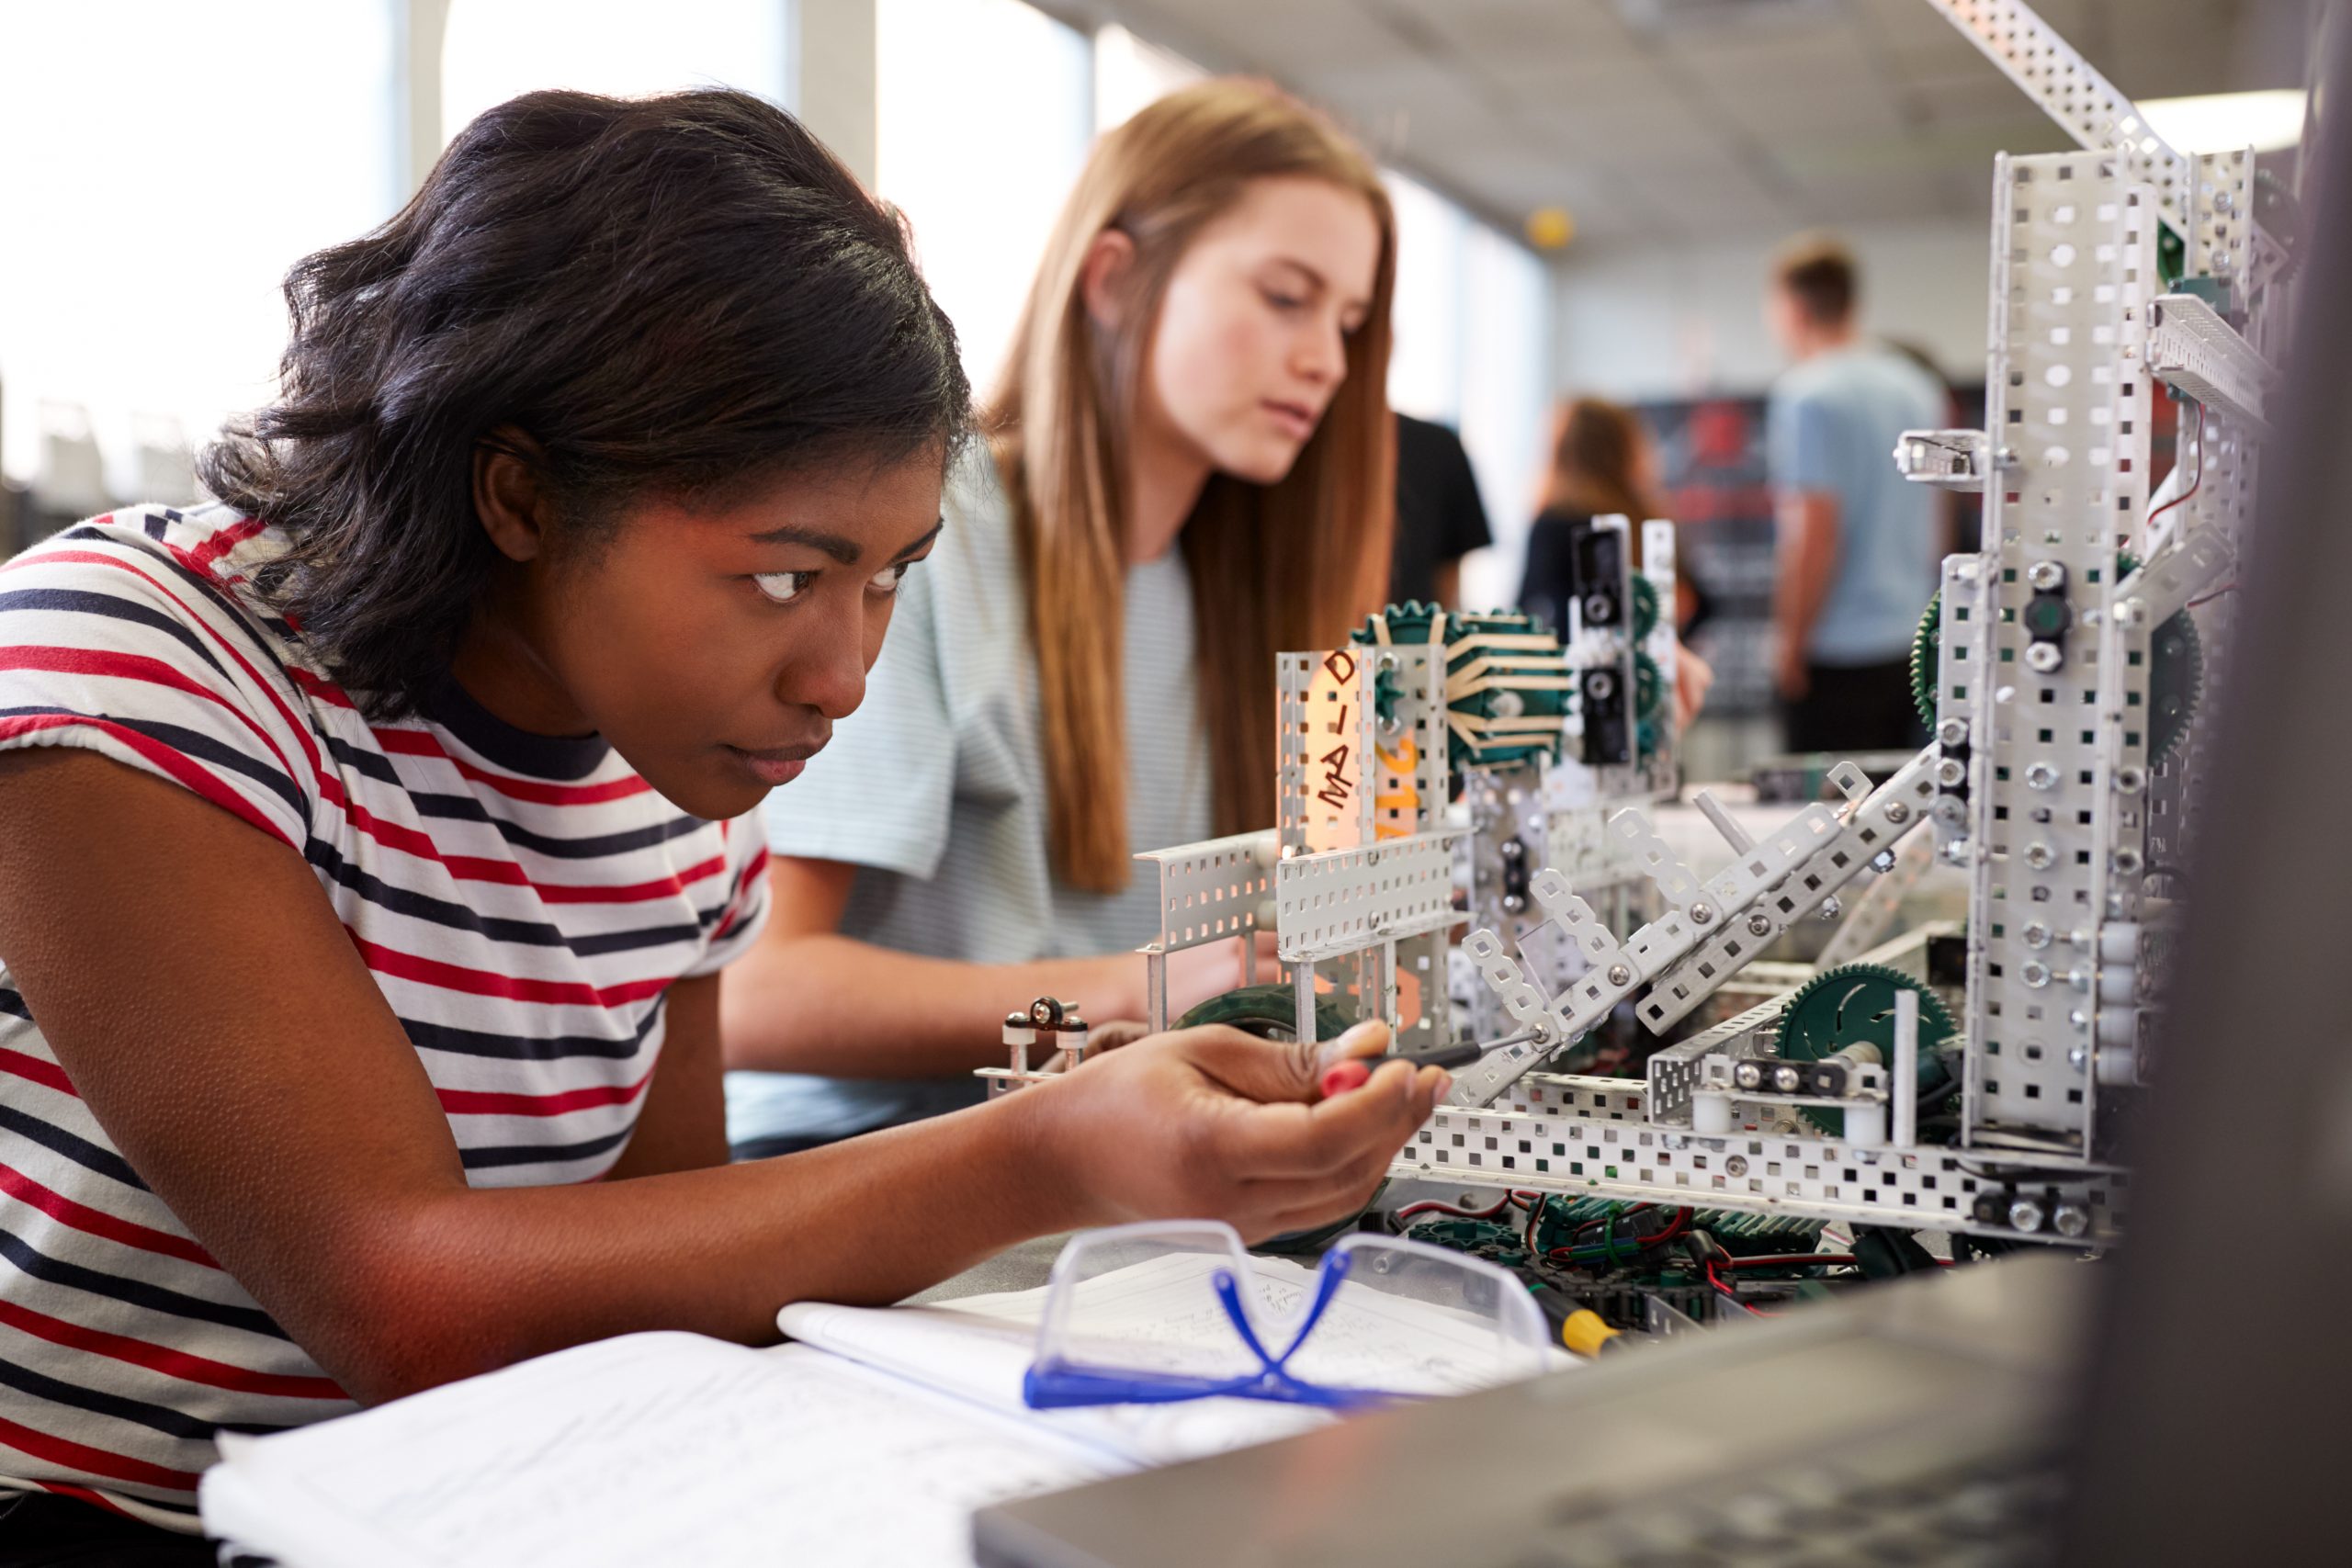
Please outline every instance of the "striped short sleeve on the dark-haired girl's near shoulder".
[{"label": "striped short sleeve on the dark-haired girl's near shoulder", "polygon": [[174,783],[296,853],[325,778],[254,618],[186,555],[120,522],[0,567],[0,750],[33,745]]}]

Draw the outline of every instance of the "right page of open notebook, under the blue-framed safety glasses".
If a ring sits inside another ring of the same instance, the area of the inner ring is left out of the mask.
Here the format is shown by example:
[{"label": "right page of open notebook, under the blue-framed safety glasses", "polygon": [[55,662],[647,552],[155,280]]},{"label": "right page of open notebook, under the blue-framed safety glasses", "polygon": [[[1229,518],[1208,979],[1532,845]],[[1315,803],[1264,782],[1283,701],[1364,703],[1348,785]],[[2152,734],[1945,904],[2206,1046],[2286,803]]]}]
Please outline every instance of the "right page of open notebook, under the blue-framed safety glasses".
[{"label": "right page of open notebook, under the blue-framed safety glasses", "polygon": [[[1223,1262],[1211,1255],[1169,1253],[1084,1281],[1089,1335],[1124,1340],[1122,1366],[1134,1371],[1176,1371],[1185,1366],[1185,1347],[1230,1345],[1232,1328],[1211,1286],[1218,1267]],[[1268,1319],[1294,1316],[1315,1284],[1312,1269],[1284,1258],[1251,1258],[1251,1274]],[[776,1324],[795,1340],[1018,1413],[1145,1465],[1263,1443],[1331,1420],[1322,1410],[1258,1399],[1030,1410],[1021,1399],[1021,1378],[1037,1354],[1037,1321],[1049,1288],[924,1307],[797,1302],[779,1312]],[[1470,1371],[1482,1366],[1470,1349],[1479,1335],[1463,1314],[1392,1298],[1341,1300],[1352,1305],[1327,1314],[1310,1340],[1315,1378],[1371,1389],[1458,1392],[1479,1385]],[[1569,1356],[1559,1354],[1552,1363],[1569,1363]],[[1308,1356],[1301,1356],[1301,1371],[1305,1366]]]}]

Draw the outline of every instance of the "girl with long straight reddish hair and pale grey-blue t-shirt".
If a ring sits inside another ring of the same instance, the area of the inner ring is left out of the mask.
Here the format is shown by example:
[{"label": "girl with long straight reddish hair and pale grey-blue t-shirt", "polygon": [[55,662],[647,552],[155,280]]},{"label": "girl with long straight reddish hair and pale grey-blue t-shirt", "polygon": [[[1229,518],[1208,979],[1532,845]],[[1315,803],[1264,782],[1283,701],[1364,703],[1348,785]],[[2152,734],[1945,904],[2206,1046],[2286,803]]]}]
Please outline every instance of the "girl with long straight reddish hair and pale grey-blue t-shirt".
[{"label": "girl with long straight reddish hair and pale grey-blue t-shirt", "polygon": [[[1275,654],[1378,604],[1392,277],[1374,165],[1265,85],[1096,146],[938,548],[875,581],[861,710],[769,797],[774,919],[724,992],[739,1157],[976,1103],[1037,994],[1098,1039],[1143,1013],[1131,853],[1272,825]],[[1242,957],[1176,954],[1171,1013]]]}]

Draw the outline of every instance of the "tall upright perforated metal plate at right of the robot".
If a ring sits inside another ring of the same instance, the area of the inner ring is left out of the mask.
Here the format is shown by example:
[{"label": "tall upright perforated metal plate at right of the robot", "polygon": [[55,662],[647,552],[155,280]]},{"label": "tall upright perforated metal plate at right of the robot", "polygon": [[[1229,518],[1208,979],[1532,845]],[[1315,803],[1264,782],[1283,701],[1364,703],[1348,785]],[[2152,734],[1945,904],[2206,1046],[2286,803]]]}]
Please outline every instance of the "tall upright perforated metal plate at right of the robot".
[{"label": "tall upright perforated metal plate at right of the robot", "polygon": [[[2157,216],[2112,158],[2004,158],[1994,235],[1987,418],[2020,465],[1985,491],[1985,569],[1969,618],[1943,618],[1938,693],[1973,743],[1962,1140],[2084,1152],[2098,926],[2136,917],[2117,865],[2145,851],[2147,632],[2117,625],[2114,569],[2147,510],[2136,301],[2157,287]],[[2025,616],[2051,574],[2072,625],[2037,670]]]}]

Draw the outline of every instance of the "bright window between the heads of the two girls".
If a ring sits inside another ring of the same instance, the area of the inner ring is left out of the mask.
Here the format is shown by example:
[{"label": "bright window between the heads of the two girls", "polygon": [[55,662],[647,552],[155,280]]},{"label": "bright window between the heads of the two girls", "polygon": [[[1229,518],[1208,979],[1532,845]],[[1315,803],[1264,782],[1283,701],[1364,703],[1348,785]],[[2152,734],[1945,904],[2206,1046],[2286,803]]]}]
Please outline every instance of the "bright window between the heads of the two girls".
[{"label": "bright window between the heads of the two girls", "polygon": [[985,397],[1087,160],[1087,35],[1021,0],[875,2],[875,186]]}]

